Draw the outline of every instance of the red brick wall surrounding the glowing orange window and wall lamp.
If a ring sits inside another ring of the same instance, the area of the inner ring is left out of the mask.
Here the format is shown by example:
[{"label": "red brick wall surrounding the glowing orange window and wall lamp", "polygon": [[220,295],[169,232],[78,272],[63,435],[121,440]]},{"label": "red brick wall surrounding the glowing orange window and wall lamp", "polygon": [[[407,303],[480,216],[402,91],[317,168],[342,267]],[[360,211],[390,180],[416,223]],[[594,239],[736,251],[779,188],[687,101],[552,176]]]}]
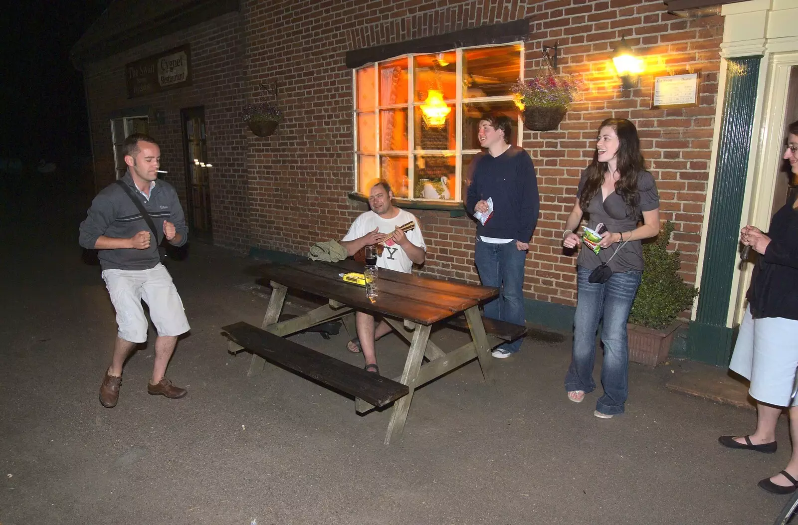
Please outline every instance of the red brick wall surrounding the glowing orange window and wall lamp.
[{"label": "red brick wall surrounding the glowing orange window and wall lamp", "polygon": [[[592,156],[601,120],[625,117],[642,137],[657,180],[662,219],[674,220],[672,247],[682,252],[693,282],[713,133],[722,18],[681,19],[662,0],[406,0],[243,2],[247,20],[245,97],[277,81],[286,121],[270,137],[247,132],[250,234],[255,246],[304,253],[318,239],[340,239],[365,203],[347,199],[354,187],[352,73],[347,50],[442,34],[465,27],[531,19],[527,77],[539,67],[543,43],[559,44],[562,73],[582,74],[589,89],[553,132],[524,132],[538,169],[541,215],[527,259],[527,297],[575,304],[575,258],[560,238],[575,202],[580,171]],[[622,92],[612,69],[612,45],[626,37],[650,71],[701,71],[701,103],[651,110],[652,77]],[[429,245],[424,271],[476,281],[467,218],[420,211]]]}]

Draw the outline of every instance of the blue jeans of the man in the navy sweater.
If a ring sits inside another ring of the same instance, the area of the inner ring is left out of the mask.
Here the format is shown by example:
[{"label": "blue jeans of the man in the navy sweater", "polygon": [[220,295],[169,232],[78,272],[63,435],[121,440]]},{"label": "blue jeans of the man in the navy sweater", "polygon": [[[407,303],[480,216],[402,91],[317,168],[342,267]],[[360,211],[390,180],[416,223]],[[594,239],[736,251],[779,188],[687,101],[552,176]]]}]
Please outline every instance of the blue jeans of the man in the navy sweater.
[{"label": "blue jeans of the man in the navy sweater", "polygon": [[[523,326],[523,266],[527,251],[519,251],[515,241],[492,244],[477,237],[474,262],[482,284],[499,289],[499,297],[485,303],[485,317]],[[522,339],[504,343],[500,348],[518,352]]]}]

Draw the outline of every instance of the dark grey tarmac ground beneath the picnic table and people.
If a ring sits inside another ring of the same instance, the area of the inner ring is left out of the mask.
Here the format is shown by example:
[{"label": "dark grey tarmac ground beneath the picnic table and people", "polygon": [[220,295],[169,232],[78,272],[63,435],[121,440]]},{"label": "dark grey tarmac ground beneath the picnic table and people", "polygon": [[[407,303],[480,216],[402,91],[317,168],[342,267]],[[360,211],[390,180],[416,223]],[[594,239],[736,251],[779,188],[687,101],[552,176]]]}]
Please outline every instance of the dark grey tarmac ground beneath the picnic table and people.
[{"label": "dark grey tarmac ground beneath the picnic table and people", "polygon": [[[674,389],[703,381],[701,394],[724,370],[631,364],[626,413],[600,420],[600,387],[582,404],[565,395],[568,334],[533,330],[496,360],[496,385],[476,361],[425,385],[386,446],[387,410],[358,416],[350,398],[273,365],[247,377],[249,354],[227,353],[219,328],[259,325],[268,290],[251,259],[202,243],[168,263],[192,325],[168,377],[188,396],[148,396],[151,338],[105,409],[116,326],[100,268],[77,246],[88,202],[64,185],[4,193],[2,525],[766,524],[786,501],[757,488],[787,464],[786,420],[776,454],[726,449],[717,436],[752,432],[753,413]],[[306,307],[290,298],[286,311]],[[444,349],[463,337],[433,334]],[[361,364],[346,330],[293,339]],[[385,375],[406,349],[379,341]]]}]

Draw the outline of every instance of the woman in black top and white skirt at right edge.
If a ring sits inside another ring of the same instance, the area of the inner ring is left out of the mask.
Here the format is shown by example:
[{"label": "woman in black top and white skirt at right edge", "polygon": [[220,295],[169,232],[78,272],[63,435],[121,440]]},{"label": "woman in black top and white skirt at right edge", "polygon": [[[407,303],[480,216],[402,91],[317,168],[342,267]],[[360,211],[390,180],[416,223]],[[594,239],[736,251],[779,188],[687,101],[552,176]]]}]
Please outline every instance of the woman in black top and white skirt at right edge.
[{"label": "woman in black top and white skirt at right edge", "polygon": [[[784,160],[798,176],[798,120],[789,125]],[[776,421],[789,407],[792,457],[783,471],[759,482],[774,494],[798,488],[798,401],[791,399],[798,368],[798,200],[793,191],[770,222],[767,233],[754,226],[740,231],[740,242],[760,256],[751,277],[748,308],[740,325],[729,369],[751,381],[757,401],[757,429],[749,436],[721,436],[729,448],[776,452]]]}]

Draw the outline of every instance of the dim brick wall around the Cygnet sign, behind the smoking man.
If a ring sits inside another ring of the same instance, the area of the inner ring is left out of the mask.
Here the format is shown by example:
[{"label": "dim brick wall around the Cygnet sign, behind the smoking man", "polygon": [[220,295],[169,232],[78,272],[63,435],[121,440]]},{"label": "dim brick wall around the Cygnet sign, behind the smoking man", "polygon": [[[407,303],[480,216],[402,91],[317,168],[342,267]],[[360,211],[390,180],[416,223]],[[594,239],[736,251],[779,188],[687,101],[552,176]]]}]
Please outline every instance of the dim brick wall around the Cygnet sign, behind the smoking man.
[{"label": "dim brick wall around the Cygnet sign, behind the smoking man", "polygon": [[[249,239],[247,212],[247,138],[239,119],[243,105],[243,23],[231,13],[147,42],[128,52],[85,67],[97,189],[113,182],[113,146],[109,120],[120,110],[150,109],[149,132],[158,140],[161,164],[186,206],[186,171],[180,109],[204,106],[210,175],[211,220],[214,242],[246,250]],[[191,45],[192,85],[127,98],[124,65],[178,45]],[[152,116],[163,113],[160,124]],[[129,115],[129,112],[128,112]],[[190,234],[189,234],[190,235]]]}]

